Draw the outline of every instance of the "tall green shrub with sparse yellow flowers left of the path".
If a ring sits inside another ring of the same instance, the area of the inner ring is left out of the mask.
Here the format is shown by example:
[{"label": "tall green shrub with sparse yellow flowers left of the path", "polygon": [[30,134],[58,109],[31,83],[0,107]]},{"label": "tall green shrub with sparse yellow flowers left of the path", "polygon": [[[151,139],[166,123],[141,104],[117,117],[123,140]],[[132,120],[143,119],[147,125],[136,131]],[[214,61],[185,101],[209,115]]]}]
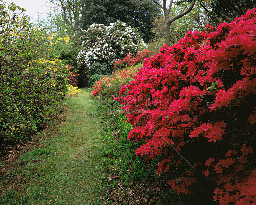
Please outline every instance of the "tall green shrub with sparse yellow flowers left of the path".
[{"label": "tall green shrub with sparse yellow flowers left of the path", "polygon": [[49,126],[67,90],[66,66],[22,10],[0,4],[0,148]]}]

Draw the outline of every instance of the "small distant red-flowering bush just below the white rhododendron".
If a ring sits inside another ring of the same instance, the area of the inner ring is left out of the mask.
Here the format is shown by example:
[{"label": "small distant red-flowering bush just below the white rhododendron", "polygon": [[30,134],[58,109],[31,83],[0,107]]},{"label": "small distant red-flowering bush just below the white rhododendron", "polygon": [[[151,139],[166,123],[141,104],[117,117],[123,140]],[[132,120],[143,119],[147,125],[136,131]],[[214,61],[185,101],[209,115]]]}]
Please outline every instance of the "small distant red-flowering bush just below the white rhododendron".
[{"label": "small distant red-flowering bush just below the white rhododendron", "polygon": [[146,57],[149,57],[152,54],[153,54],[153,51],[149,51],[148,49],[145,49],[142,52],[138,52],[135,56],[134,54],[127,54],[125,58],[123,58],[120,61],[116,61],[114,63],[113,72],[115,72],[118,69],[122,69],[124,67],[130,67],[132,65],[137,65],[139,63],[142,63]]}]

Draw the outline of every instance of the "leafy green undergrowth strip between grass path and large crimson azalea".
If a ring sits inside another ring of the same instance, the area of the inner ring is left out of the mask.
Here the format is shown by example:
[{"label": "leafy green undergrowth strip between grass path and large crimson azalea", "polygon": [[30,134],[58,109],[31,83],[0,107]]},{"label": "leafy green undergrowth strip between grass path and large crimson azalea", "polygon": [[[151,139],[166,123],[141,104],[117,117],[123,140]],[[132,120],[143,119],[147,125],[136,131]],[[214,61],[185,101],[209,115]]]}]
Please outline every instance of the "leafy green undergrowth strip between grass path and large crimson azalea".
[{"label": "leafy green undergrowth strip between grass path and large crimson azalea", "polygon": [[[135,157],[135,149],[143,142],[130,142],[127,135],[132,129],[114,108],[111,100],[97,101],[102,124],[107,133],[103,138],[104,165],[111,190],[106,192],[108,204],[172,204],[176,201],[173,190],[164,176],[155,174],[156,161]],[[176,201],[177,202],[177,201]],[[182,204],[179,202],[179,204]]]}]

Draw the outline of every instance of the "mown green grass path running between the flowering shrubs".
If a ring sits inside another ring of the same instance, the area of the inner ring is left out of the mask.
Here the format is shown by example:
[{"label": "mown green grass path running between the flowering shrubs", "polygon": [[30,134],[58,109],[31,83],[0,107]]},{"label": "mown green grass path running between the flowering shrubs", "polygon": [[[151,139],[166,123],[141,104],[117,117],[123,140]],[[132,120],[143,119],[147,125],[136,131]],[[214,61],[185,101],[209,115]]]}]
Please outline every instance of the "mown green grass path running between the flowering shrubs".
[{"label": "mown green grass path running between the flowering shrubs", "polygon": [[66,121],[48,130],[54,136],[17,158],[2,177],[0,204],[105,204],[102,128],[93,99],[82,90],[67,103]]}]

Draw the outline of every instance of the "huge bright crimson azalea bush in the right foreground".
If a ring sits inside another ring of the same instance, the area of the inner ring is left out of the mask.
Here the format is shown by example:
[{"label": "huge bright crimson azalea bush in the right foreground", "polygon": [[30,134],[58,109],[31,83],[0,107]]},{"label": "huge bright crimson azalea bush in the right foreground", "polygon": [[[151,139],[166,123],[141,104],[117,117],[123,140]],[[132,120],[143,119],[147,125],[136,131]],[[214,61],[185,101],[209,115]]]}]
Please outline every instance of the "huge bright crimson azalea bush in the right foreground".
[{"label": "huge bright crimson azalea bush in the right foreground", "polygon": [[[136,156],[160,159],[177,194],[193,202],[256,202],[256,12],[214,32],[188,32],[145,61],[115,100],[145,141]],[[214,197],[213,197],[214,196]],[[213,197],[213,198],[212,198]],[[189,198],[189,197],[186,197]],[[200,201],[201,200],[201,201]]]}]

